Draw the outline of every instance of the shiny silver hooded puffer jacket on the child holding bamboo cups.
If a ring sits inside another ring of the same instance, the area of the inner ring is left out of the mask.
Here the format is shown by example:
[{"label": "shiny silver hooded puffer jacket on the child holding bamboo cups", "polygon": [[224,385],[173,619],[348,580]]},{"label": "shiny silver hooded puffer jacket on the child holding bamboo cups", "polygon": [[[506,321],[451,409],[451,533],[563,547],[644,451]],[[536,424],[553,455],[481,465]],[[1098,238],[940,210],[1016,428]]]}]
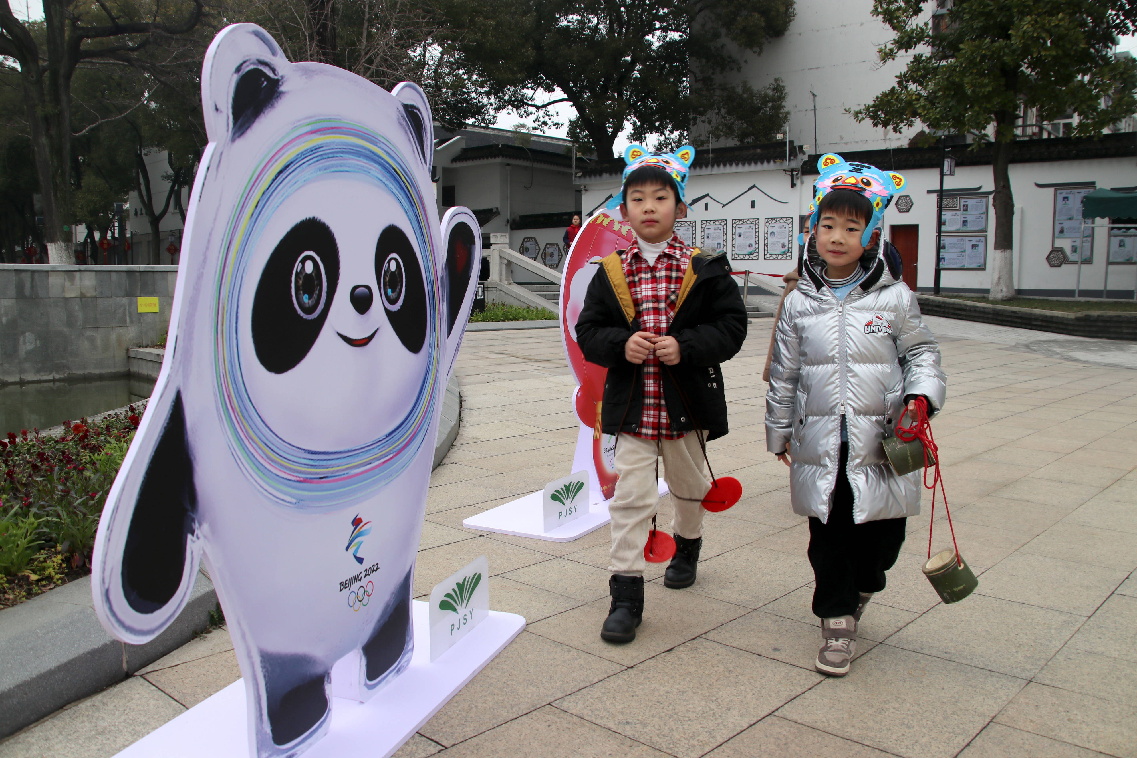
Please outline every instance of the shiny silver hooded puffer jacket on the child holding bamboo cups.
[{"label": "shiny silver hooded puffer jacket on the child holding bamboo cups", "polygon": [[827,522],[845,414],[854,522],[915,516],[921,472],[893,473],[881,440],[891,435],[905,395],[927,397],[932,414],[944,406],[939,345],[912,290],[897,281],[895,249],[885,257],[866,250],[868,274],[839,302],[819,274],[824,264],[813,242],[807,245],[813,255],[798,261],[802,281],[786,297],[775,327],[766,449],[777,455],[789,447],[794,513]]}]

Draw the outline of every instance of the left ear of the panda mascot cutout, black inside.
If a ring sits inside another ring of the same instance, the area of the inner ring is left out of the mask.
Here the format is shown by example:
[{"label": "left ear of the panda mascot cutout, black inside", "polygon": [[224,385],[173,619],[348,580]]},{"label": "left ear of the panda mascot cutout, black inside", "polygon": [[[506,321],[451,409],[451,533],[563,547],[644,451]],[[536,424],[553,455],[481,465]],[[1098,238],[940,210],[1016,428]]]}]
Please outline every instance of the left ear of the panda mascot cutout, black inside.
[{"label": "left ear of the panda mascot cutout, black inside", "polygon": [[201,67],[201,108],[210,142],[240,138],[276,102],[288,59],[256,24],[214,38]]}]

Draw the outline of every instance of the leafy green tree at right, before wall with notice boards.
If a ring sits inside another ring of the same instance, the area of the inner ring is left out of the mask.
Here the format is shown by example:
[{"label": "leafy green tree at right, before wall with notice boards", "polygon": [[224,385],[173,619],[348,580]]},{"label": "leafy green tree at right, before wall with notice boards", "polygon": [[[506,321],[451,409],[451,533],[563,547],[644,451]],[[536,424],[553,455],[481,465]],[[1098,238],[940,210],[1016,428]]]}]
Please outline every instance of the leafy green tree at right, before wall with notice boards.
[{"label": "leafy green tree at right, before wall with notice boards", "polygon": [[1137,3],[955,0],[935,25],[923,0],[875,0],[872,13],[896,32],[879,50],[882,61],[915,53],[893,88],[853,115],[896,132],[920,122],[993,143],[991,297],[1012,298],[1009,167],[1020,115],[1034,108],[1046,122],[1073,113],[1073,134],[1087,136],[1137,110],[1137,63],[1113,56],[1118,36],[1137,27]]}]

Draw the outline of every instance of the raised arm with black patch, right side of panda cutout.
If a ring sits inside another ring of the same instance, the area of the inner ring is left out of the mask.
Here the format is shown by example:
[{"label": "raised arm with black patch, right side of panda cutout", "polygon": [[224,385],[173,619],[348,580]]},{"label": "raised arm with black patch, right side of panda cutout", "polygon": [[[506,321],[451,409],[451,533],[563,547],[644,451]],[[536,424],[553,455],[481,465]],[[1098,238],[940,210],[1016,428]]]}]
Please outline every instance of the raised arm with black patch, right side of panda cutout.
[{"label": "raised arm with black patch, right side of panda cutout", "polygon": [[482,268],[482,230],[468,208],[456,206],[442,216],[442,239],[446,240],[447,376],[462,347],[462,338],[474,305],[478,274]]}]

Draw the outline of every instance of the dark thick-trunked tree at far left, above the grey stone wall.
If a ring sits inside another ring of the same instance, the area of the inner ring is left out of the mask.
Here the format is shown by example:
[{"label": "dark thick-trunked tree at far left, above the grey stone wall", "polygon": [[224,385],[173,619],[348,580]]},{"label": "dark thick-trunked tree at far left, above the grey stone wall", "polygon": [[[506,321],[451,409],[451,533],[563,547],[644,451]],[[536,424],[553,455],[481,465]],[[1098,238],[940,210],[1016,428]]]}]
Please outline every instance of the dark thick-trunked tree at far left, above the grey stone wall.
[{"label": "dark thick-trunked tree at far left, above the grey stone wall", "polygon": [[43,0],[43,16],[22,22],[9,0],[0,0],[0,66],[18,72],[50,260],[74,263],[65,227],[74,210],[75,73],[97,64],[160,68],[164,56],[148,59],[149,49],[159,42],[171,49],[176,36],[198,26],[205,0]]}]

